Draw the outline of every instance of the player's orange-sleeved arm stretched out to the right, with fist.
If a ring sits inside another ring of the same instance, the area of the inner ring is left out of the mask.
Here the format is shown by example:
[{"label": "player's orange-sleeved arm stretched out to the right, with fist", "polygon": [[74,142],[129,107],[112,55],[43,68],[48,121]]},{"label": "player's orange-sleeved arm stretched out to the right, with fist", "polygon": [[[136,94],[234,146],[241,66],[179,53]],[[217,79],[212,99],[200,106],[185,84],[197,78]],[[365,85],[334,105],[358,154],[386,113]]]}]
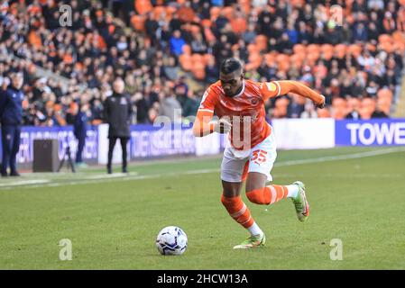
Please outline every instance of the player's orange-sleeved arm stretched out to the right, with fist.
[{"label": "player's orange-sleeved arm stretched out to the right, with fist", "polygon": [[266,83],[262,85],[262,94],[264,99],[267,100],[268,98],[288,94],[288,93],[295,93],[299,94],[303,97],[311,99],[318,108],[325,107],[325,96],[322,94],[318,94],[311,88],[306,85],[299,83],[298,81],[293,80],[282,80],[282,81],[274,81],[271,83]]}]

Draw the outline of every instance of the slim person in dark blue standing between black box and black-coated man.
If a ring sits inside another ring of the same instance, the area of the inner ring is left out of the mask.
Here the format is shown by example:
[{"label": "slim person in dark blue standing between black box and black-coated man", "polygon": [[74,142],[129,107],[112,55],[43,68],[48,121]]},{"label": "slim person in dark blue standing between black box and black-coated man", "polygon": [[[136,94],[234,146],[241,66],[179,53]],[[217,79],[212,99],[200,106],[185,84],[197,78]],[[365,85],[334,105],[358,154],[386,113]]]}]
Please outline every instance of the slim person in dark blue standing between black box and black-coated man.
[{"label": "slim person in dark blue standing between black box and black-coated man", "polygon": [[86,136],[87,136],[87,106],[80,106],[78,103],[72,104],[72,114],[74,116],[73,121],[73,133],[75,134],[76,139],[78,139],[78,151],[76,153],[76,165],[78,167],[87,166],[83,162],[83,149],[86,145]]}]

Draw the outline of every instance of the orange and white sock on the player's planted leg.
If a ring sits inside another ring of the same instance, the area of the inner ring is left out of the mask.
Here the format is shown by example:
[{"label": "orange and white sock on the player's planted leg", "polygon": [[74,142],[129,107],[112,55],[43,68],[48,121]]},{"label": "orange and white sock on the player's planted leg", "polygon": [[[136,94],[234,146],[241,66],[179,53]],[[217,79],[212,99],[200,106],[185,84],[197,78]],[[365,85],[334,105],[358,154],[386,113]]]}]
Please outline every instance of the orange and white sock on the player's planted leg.
[{"label": "orange and white sock on the player's planted leg", "polygon": [[224,194],[221,196],[221,202],[224,204],[226,211],[229,215],[244,226],[245,229],[248,229],[252,235],[262,235],[262,229],[254,222],[249,208],[242,201],[240,196],[235,197],[225,197]]}]

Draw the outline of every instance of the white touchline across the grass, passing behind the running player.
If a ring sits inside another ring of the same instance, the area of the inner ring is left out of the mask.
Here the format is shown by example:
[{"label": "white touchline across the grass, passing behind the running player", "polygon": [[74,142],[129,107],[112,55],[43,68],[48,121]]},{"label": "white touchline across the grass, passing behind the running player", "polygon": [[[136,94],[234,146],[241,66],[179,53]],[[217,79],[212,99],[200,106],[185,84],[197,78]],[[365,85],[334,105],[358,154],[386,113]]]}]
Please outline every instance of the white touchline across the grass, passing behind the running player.
[{"label": "white touchline across the grass, passing behind the running player", "polygon": [[[340,160],[348,160],[348,159],[355,159],[355,158],[363,158],[363,157],[374,157],[374,156],[381,156],[381,155],[386,155],[386,154],[391,154],[395,152],[402,152],[405,151],[405,147],[400,147],[400,148],[386,148],[386,149],[378,149],[378,150],[371,150],[371,151],[366,151],[366,152],[360,152],[360,153],[352,153],[352,154],[345,154],[345,155],[337,155],[337,156],[327,156],[327,157],[316,157],[316,158],[308,158],[308,159],[301,159],[301,160],[290,160],[290,161],[284,161],[284,162],[279,162],[275,163],[274,166],[295,166],[295,165],[301,165],[301,164],[313,164],[313,163],[323,163],[323,162],[329,162],[329,161],[340,161]],[[46,186],[51,186],[51,187],[57,187],[57,186],[64,186],[64,185],[75,185],[75,184],[99,184],[99,183],[105,183],[105,182],[112,182],[112,181],[135,181],[135,180],[143,180],[143,179],[156,179],[156,178],[161,178],[164,176],[176,176],[176,175],[196,175],[196,174],[208,174],[208,173],[217,173],[219,172],[219,168],[214,168],[214,169],[198,169],[198,170],[189,170],[189,171],[184,171],[184,172],[170,172],[170,173],[165,173],[165,174],[153,174],[153,175],[127,175],[125,177],[122,177],[121,174],[117,174],[115,177],[108,177],[108,175],[92,175],[87,178],[83,178],[83,180],[78,180],[78,181],[69,181],[67,183],[49,183],[51,182],[50,180],[32,180],[32,181],[47,181],[48,183],[44,184],[39,184],[38,182],[32,183],[32,185],[29,185],[26,183],[26,180],[24,188],[38,188],[38,187],[46,187]],[[22,181],[23,182],[23,181]],[[19,185],[19,184],[14,184],[14,186]],[[0,189],[7,189],[10,184],[1,184]],[[3,188],[4,187],[4,188]]]}]

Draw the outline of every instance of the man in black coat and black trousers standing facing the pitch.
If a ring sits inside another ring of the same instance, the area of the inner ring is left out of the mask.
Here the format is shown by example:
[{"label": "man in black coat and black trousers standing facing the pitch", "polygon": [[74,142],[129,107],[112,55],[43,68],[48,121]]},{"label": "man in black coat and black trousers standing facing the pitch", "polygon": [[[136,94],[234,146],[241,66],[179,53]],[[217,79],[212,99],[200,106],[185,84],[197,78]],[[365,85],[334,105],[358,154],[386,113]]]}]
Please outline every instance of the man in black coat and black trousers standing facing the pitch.
[{"label": "man in black coat and black trousers standing facing the pitch", "polygon": [[127,173],[127,150],[126,144],[130,138],[131,115],[133,112],[132,103],[128,94],[124,94],[124,80],[116,78],[113,83],[114,93],[106,98],[105,120],[109,124],[108,129],[108,163],[107,173],[112,174],[113,151],[116,139],[120,139],[123,149],[123,173]]}]

